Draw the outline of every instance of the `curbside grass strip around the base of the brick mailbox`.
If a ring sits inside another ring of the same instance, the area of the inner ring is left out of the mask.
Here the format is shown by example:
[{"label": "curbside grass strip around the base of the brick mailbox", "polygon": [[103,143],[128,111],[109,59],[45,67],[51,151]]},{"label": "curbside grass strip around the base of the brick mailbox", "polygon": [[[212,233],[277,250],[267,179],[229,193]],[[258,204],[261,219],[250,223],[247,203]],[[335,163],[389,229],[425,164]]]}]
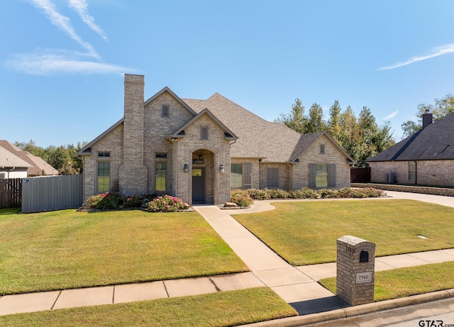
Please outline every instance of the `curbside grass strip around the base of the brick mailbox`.
[{"label": "curbside grass strip around the base of the brick mailbox", "polygon": [[[336,294],[336,277],[321,279],[323,287]],[[454,288],[454,262],[375,272],[375,301]]]}]

